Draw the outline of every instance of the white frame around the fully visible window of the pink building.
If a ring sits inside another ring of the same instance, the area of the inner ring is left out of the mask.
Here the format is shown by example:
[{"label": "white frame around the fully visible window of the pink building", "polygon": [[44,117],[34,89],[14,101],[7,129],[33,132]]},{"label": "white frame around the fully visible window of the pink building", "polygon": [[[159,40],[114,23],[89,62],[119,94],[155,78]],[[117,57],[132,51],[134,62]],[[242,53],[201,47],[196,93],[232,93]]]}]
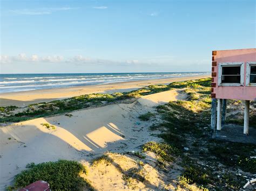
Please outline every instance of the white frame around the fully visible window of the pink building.
[{"label": "white frame around the fully visible window of the pink building", "polygon": [[[240,83],[221,83],[222,68],[240,66]],[[218,64],[218,86],[244,86],[245,62],[221,62]]]}]

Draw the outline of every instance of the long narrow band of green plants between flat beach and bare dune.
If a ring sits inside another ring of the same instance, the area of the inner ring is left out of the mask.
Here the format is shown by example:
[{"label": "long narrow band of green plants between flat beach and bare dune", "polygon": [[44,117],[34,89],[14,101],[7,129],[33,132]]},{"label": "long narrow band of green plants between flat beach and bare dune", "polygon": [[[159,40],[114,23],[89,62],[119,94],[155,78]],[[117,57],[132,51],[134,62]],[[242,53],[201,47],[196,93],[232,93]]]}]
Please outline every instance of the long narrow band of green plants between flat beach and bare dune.
[{"label": "long narrow band of green plants between flat beach and bare dune", "polygon": [[[166,85],[151,85],[126,93],[81,95],[48,103],[42,102],[30,104],[25,108],[18,108],[15,106],[1,107],[0,110],[4,115],[0,118],[0,123],[21,122],[38,117],[62,114],[78,109],[95,107],[97,105],[104,105],[130,98],[137,98],[143,95],[154,94],[170,89],[171,87]],[[12,112],[16,109],[22,109],[22,111],[16,113]],[[70,114],[67,114],[66,116],[71,117]]]}]

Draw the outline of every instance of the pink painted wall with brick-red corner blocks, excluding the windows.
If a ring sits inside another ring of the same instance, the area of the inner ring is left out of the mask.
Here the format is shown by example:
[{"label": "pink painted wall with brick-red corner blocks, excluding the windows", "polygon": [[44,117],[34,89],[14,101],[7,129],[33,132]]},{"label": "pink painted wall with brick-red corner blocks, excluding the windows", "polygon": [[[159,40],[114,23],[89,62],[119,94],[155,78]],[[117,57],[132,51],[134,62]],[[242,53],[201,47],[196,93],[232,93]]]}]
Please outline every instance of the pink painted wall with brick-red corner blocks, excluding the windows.
[{"label": "pink painted wall with brick-red corner blocks, excluding the windows", "polygon": [[244,84],[246,84],[246,62],[256,61],[256,48],[216,51],[212,60],[217,62],[217,66],[214,64],[212,66],[212,76],[216,73],[212,79],[212,97],[256,101],[256,86],[218,86],[218,65],[221,62],[245,62]]}]

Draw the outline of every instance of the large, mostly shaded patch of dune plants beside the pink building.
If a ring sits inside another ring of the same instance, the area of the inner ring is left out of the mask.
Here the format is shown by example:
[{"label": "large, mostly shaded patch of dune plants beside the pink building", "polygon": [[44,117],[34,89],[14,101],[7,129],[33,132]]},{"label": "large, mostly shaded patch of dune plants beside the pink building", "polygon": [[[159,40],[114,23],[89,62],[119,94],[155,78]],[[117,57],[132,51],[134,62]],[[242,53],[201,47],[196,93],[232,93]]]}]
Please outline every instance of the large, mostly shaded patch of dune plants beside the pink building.
[{"label": "large, mostly shaded patch of dune plants beside the pink building", "polygon": [[[163,143],[150,143],[143,146],[143,151],[156,153],[162,161],[179,156],[184,168],[179,182],[185,188],[193,190],[195,184],[199,189],[240,189],[246,180],[235,172],[242,169],[255,174],[256,160],[250,156],[255,155],[256,146],[210,138],[211,80],[174,82],[169,87],[183,88],[187,100],[156,108],[163,121],[150,129],[162,131],[159,137],[165,140],[165,148],[161,147]],[[236,120],[235,116],[229,120]],[[251,120],[255,121],[255,116]]]}]

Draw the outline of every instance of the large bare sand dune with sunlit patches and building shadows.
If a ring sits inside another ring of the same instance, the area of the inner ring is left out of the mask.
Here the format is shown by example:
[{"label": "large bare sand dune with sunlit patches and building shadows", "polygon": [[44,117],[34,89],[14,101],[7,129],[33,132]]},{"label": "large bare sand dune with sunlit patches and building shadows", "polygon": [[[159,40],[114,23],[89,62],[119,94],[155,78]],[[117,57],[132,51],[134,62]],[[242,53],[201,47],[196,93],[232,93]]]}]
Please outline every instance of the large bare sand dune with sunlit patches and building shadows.
[{"label": "large bare sand dune with sunlit patches and building shadows", "polygon": [[[89,161],[105,151],[133,151],[147,141],[158,140],[148,131],[151,122],[141,122],[138,116],[177,98],[184,96],[170,90],[143,96],[130,104],[111,104],[70,112],[71,117],[37,118],[0,128],[0,189],[29,162]],[[43,123],[55,129],[47,129]]]}]

